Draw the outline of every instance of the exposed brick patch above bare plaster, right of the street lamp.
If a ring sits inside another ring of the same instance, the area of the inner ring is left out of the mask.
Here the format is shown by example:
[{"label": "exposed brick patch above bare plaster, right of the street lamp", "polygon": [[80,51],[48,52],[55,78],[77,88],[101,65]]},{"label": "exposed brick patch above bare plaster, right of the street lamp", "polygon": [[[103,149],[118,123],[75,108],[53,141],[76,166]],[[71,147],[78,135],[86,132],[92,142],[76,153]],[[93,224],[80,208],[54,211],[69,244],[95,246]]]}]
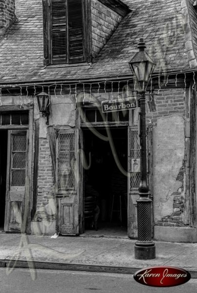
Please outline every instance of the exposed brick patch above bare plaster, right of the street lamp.
[{"label": "exposed brick patch above bare plaster, right of the street lamp", "polygon": [[[156,92],[157,93],[157,92]],[[151,96],[148,96],[151,100]],[[149,103],[147,103],[147,123],[151,120],[156,123],[160,116],[179,114],[184,116],[184,89],[161,89],[158,94],[153,96],[154,112],[152,112]]]}]

